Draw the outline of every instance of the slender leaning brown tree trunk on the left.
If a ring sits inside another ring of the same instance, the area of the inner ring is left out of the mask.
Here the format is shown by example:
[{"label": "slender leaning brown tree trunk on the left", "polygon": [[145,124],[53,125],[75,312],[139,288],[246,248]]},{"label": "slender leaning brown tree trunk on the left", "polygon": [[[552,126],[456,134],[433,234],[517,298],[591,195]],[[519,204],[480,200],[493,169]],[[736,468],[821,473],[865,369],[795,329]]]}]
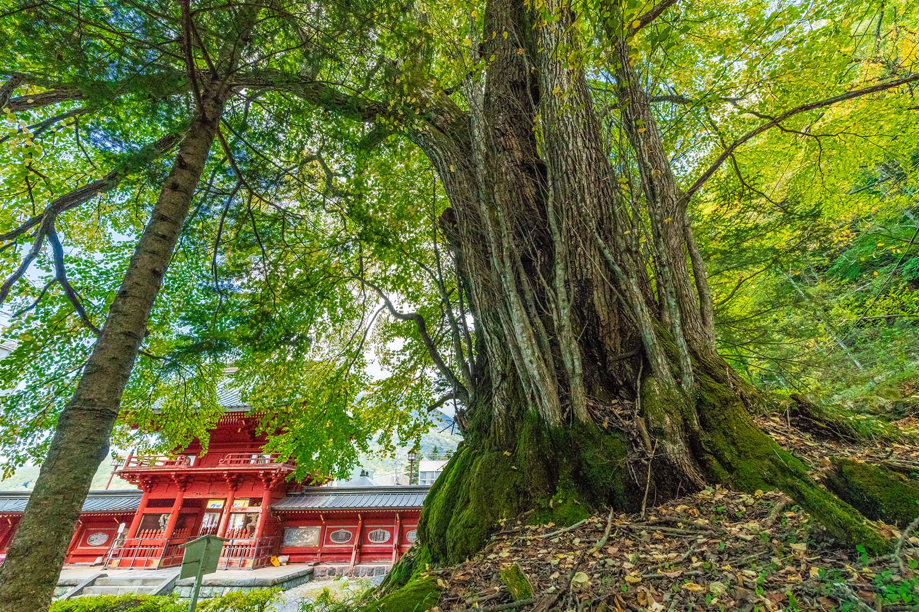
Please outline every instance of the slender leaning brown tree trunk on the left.
[{"label": "slender leaning brown tree trunk on the left", "polygon": [[0,573],[4,612],[39,612],[51,603],[67,544],[93,476],[108,454],[121,394],[230,93],[220,83],[202,93],[74,397],[58,420]]}]

